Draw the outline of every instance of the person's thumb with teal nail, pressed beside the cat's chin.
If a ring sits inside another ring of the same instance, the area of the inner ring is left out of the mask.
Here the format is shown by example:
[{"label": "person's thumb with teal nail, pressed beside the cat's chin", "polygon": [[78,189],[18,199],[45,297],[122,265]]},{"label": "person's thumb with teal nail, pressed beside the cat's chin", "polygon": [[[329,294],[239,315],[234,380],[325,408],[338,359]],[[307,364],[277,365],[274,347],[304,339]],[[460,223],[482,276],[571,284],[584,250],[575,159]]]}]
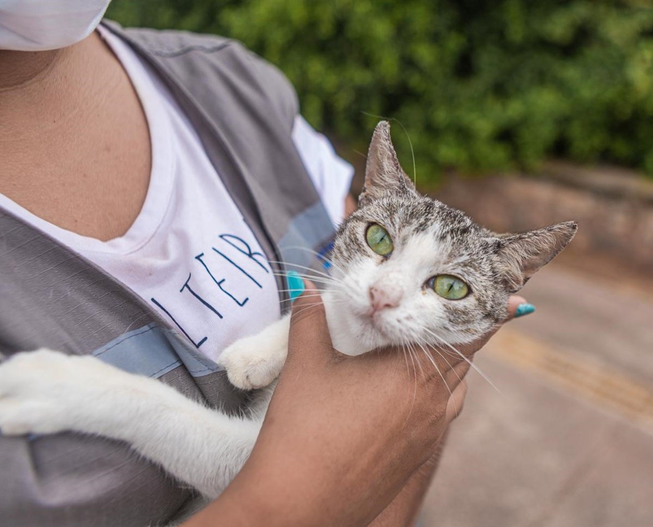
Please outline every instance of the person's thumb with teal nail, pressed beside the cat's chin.
[{"label": "person's thumb with teal nail, pressed beside the cat's chin", "polygon": [[288,359],[311,355],[323,357],[333,354],[331,336],[328,332],[327,315],[317,288],[304,279],[304,293],[293,303],[288,340]]}]

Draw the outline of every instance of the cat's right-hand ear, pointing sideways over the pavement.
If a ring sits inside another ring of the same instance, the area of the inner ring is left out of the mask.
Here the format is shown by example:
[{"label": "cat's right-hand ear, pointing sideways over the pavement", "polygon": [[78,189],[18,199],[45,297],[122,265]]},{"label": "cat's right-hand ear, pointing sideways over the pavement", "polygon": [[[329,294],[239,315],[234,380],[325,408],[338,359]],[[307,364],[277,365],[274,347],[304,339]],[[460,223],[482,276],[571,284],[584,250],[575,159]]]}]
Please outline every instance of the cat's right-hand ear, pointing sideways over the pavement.
[{"label": "cat's right-hand ear, pointing sideways over the pavement", "polygon": [[499,272],[510,293],[519,289],[548,264],[576,234],[575,221],[565,221],[522,234],[500,234],[497,242]]}]

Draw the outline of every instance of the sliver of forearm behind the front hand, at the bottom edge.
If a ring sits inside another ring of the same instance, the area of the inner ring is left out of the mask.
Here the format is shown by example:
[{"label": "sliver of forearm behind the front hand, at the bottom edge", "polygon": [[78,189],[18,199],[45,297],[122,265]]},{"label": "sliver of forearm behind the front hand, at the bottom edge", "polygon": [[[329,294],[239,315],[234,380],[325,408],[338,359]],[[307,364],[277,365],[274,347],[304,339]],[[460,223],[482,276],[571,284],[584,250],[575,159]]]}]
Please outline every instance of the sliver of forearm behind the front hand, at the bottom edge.
[{"label": "sliver of forearm behind the front hand, at the bottom edge", "polygon": [[436,453],[413,473],[406,486],[376,517],[370,527],[412,527],[415,525],[422,502],[424,502],[424,496],[426,496],[433,476],[438,470],[446,439],[447,432],[440,439]]}]

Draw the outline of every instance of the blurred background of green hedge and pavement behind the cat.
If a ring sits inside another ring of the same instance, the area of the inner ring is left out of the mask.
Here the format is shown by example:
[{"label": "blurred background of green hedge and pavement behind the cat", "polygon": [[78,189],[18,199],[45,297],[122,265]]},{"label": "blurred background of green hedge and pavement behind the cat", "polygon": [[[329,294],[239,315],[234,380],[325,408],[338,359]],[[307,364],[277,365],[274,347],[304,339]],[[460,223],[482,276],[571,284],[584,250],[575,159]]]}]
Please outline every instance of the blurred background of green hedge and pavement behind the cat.
[{"label": "blurred background of green hedge and pavement behind the cat", "polygon": [[[424,527],[653,525],[653,5],[114,0],[242,40],[357,167],[379,116],[422,191],[487,227],[576,219],[490,342]],[[414,162],[413,162],[414,159]]]}]

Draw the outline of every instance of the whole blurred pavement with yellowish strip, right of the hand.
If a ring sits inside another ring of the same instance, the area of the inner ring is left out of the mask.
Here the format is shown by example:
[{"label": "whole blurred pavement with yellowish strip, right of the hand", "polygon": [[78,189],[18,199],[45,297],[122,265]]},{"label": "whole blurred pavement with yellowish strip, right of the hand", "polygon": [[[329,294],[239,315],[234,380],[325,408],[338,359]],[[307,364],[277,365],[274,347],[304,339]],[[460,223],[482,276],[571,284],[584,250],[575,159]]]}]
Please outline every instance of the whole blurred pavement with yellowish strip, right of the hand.
[{"label": "whole blurred pavement with yellowish strip, right of the hand", "polygon": [[424,527],[653,526],[653,294],[553,263],[494,338]]}]

